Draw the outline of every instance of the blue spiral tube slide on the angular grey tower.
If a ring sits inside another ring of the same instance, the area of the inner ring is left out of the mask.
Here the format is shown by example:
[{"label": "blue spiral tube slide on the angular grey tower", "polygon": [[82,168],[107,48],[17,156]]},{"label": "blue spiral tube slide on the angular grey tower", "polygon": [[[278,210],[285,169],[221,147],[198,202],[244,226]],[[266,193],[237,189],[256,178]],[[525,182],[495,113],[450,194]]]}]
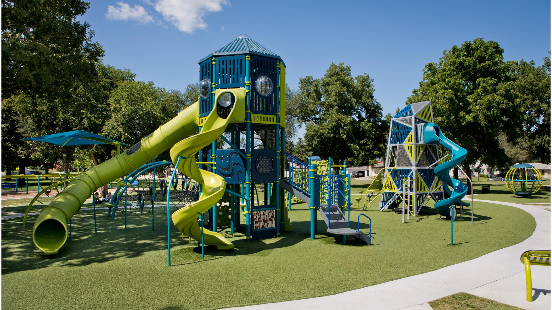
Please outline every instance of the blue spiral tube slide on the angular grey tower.
[{"label": "blue spiral tube slide on the angular grey tower", "polygon": [[[427,123],[424,128],[424,140],[426,143],[439,143],[444,148],[452,153],[449,161],[437,165],[435,167],[435,175],[443,182],[444,199],[435,203],[435,209],[440,215],[449,217],[449,207],[455,204],[463,204],[469,206],[462,199],[468,191],[468,186],[457,179],[450,177],[449,171],[461,163],[468,152],[465,148],[458,146],[443,135],[439,126],[436,124]],[[452,191],[448,186],[452,187]]]}]

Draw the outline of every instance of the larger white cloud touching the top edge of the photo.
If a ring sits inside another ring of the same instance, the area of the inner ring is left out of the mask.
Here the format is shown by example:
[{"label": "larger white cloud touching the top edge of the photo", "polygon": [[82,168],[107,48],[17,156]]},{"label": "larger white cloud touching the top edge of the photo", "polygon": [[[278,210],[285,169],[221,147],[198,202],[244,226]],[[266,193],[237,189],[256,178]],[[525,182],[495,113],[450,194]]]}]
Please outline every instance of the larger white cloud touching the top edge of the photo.
[{"label": "larger white cloud touching the top edge of the photo", "polygon": [[196,29],[207,28],[205,15],[220,12],[228,4],[227,0],[157,0],[153,7],[178,30],[191,34]]}]

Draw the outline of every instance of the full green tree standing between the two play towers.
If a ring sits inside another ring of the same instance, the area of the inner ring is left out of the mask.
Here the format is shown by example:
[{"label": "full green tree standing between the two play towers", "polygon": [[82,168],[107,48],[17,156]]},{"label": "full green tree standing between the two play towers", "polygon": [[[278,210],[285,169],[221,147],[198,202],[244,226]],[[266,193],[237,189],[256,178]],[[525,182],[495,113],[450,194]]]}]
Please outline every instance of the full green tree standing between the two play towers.
[{"label": "full green tree standing between the two play towers", "polygon": [[374,164],[384,155],[388,124],[372,82],[367,73],[353,78],[344,63],[332,63],[322,78],[300,79],[296,109],[306,122],[308,153],[349,165]]}]

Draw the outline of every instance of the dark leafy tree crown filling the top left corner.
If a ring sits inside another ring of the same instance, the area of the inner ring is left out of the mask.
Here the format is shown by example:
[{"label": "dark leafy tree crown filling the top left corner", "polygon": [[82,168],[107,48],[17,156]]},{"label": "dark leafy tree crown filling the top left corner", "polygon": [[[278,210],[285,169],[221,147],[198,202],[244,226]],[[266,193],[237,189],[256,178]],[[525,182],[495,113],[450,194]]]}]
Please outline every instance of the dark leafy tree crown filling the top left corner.
[{"label": "dark leafy tree crown filling the top left corner", "polygon": [[92,81],[104,55],[81,0],[2,0],[2,98],[20,92],[71,97],[75,83]]}]

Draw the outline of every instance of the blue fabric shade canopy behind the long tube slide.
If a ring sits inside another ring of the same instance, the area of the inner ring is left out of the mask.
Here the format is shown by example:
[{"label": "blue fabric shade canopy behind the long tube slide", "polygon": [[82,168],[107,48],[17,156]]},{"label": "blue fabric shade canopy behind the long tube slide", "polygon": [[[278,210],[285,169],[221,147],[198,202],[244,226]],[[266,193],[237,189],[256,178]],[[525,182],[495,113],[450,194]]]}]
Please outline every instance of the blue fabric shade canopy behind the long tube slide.
[{"label": "blue fabric shade canopy behind the long tube slide", "polygon": [[83,130],[73,130],[60,133],[54,133],[53,135],[46,135],[40,137],[32,137],[21,139],[21,141],[38,141],[52,143],[59,146],[73,146],[73,145],[92,145],[92,144],[103,144],[103,145],[128,145],[119,141],[106,138],[104,136],[96,135],[92,132],[87,132]]}]

